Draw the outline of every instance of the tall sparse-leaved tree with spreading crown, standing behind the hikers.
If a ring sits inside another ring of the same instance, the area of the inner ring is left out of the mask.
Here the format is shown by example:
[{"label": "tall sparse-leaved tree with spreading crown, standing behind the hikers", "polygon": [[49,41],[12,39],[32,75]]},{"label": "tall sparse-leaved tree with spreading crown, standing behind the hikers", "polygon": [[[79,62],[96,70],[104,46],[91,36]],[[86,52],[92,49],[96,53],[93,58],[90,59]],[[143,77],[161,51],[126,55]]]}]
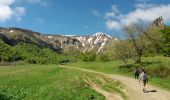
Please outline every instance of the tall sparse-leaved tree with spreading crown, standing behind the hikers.
[{"label": "tall sparse-leaved tree with spreading crown, standing behind the hikers", "polygon": [[127,39],[131,42],[135,63],[141,63],[141,56],[144,49],[142,34],[147,31],[147,27],[144,27],[144,25],[140,23],[134,23],[129,26],[124,26],[123,30],[126,33]]}]

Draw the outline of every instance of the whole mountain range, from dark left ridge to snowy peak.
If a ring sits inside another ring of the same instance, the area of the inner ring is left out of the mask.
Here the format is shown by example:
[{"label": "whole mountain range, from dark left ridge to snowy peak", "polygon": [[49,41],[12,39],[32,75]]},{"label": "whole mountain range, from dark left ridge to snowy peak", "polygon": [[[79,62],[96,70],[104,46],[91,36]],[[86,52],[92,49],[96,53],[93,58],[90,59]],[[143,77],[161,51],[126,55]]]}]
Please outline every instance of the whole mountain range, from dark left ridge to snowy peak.
[{"label": "whole mountain range, from dark left ridge to snowy peak", "polygon": [[9,45],[24,42],[48,47],[55,51],[77,49],[82,52],[95,51],[96,53],[102,52],[110,40],[117,40],[102,32],[94,33],[91,36],[51,35],[14,27],[0,27],[0,39]]}]

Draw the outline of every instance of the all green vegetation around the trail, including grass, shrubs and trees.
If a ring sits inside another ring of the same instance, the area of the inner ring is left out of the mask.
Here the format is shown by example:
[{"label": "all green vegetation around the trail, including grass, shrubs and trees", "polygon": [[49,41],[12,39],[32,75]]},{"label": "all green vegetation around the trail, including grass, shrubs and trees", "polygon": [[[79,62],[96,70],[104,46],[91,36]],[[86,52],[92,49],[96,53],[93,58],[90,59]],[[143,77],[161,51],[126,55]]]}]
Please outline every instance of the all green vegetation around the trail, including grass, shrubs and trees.
[{"label": "all green vegetation around the trail, including grass, shrubs and trees", "polygon": [[56,52],[34,43],[8,45],[0,40],[0,99],[104,100],[91,83],[127,99],[119,82],[57,64],[130,77],[134,67],[144,67],[149,82],[170,90],[170,27],[144,26],[125,27],[126,39],[114,41],[100,54],[72,49]]}]

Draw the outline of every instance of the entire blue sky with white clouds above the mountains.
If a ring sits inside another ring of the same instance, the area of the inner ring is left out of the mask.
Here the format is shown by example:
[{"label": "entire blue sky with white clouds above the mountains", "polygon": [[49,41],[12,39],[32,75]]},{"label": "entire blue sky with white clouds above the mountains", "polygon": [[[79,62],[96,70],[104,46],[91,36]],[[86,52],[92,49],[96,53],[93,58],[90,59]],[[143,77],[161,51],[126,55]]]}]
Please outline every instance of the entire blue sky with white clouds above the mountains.
[{"label": "entire blue sky with white clouds above the mountains", "polygon": [[120,36],[123,25],[162,16],[170,23],[169,0],[0,0],[0,26],[41,33]]}]

